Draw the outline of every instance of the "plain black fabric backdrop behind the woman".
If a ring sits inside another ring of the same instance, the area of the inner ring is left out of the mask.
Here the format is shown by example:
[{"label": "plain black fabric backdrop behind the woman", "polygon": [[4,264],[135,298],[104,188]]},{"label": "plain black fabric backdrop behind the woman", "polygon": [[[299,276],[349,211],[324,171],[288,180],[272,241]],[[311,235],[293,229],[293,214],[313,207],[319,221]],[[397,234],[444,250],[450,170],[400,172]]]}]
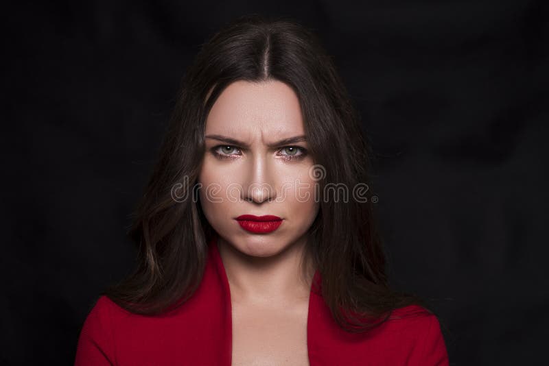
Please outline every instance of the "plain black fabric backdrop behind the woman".
[{"label": "plain black fabric backdrop behind the woman", "polygon": [[[71,364],[180,78],[236,16],[312,27],[375,151],[399,289],[439,313],[452,365],[525,365],[548,341],[548,8],[542,1],[20,2],[3,10],[1,358]],[[543,359],[543,358],[542,358]]]}]

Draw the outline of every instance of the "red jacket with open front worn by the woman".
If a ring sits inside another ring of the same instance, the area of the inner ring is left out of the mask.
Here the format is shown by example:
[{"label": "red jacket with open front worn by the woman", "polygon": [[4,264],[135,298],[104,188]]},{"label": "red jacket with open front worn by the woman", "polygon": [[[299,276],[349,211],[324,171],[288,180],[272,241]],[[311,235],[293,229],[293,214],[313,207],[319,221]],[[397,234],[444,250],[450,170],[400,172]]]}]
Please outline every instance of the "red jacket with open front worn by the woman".
[{"label": "red jacket with open front worn by the woman", "polygon": [[[314,281],[320,281],[318,271]],[[229,282],[213,238],[202,282],[180,308],[154,317],[135,315],[101,296],[82,326],[75,366],[230,366],[231,337]],[[373,332],[351,334],[339,328],[313,286],[307,350],[311,366],[448,365],[439,321],[423,308],[399,308]]]}]

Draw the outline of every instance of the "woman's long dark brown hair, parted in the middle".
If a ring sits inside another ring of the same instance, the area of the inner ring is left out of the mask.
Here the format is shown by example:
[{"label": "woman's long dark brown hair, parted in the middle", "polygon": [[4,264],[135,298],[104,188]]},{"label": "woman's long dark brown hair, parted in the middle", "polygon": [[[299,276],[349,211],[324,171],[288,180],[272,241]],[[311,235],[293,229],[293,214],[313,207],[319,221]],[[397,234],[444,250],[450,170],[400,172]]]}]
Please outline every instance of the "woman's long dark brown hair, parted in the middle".
[{"label": "woman's long dark brown hair, parted in the middle", "polygon": [[[256,14],[237,19],[202,45],[183,77],[159,159],[128,230],[138,246],[137,267],[103,293],[132,313],[155,315],[177,307],[202,280],[208,241],[215,234],[196,192],[205,121],[220,93],[237,80],[278,80],[294,90],[309,151],[323,167],[320,192],[326,184],[370,184],[371,152],[360,117],[314,33],[289,19]],[[185,180],[183,190],[192,194],[174,200],[172,188]],[[305,253],[344,330],[369,330],[402,306],[426,308],[416,295],[390,289],[370,199],[320,199]]]}]

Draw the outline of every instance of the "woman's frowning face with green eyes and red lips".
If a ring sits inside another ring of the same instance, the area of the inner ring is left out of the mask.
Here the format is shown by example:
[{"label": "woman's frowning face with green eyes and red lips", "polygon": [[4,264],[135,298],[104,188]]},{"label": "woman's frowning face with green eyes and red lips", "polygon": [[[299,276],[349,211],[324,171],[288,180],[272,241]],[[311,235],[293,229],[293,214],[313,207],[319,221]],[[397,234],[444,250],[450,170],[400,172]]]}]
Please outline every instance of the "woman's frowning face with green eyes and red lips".
[{"label": "woman's frowning face with green eyes and red lips", "polygon": [[[283,82],[229,85],[206,120],[200,204],[224,241],[249,256],[303,243],[318,213],[299,99]],[[274,215],[257,223],[241,215]],[[272,219],[272,218],[271,218]]]}]

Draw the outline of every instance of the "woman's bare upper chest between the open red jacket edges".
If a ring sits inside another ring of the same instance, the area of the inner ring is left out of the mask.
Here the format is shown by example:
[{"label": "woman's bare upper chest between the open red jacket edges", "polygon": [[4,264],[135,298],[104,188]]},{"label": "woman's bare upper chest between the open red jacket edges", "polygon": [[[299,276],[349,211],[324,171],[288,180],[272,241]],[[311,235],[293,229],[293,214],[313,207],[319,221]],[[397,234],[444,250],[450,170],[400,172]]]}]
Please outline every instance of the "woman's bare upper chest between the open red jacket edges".
[{"label": "woman's bare upper chest between the open red jacket edges", "polygon": [[233,366],[308,366],[307,306],[233,304]]}]

